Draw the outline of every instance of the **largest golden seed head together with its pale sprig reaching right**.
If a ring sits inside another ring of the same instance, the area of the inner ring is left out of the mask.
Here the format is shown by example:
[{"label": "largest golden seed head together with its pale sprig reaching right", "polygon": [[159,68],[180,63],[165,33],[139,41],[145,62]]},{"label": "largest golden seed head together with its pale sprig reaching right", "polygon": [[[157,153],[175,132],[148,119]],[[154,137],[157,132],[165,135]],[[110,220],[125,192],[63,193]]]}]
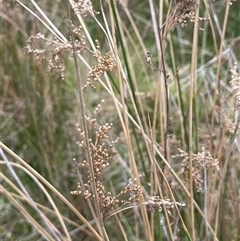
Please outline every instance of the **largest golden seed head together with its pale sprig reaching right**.
[{"label": "largest golden seed head together with its pale sprig reaching right", "polygon": [[[101,104],[102,103],[104,103],[103,100]],[[99,113],[101,104],[99,104],[94,111],[95,117],[97,117],[97,114]],[[143,193],[141,186],[137,184],[137,181],[139,178],[143,177],[144,174],[139,174],[138,177],[133,179],[129,178],[127,185],[114,196],[111,192],[107,192],[103,183],[103,172],[104,169],[109,166],[110,161],[112,161],[114,156],[117,154],[114,147],[118,143],[118,139],[115,141],[109,140],[107,133],[112,129],[112,123],[106,123],[99,126],[96,118],[86,116],[86,120],[94,128],[95,140],[86,140],[85,132],[82,131],[81,128],[79,128],[79,124],[77,124],[77,129],[80,133],[80,141],[77,142],[77,145],[86,151],[88,151],[89,148],[91,157],[90,161],[93,167],[93,176],[91,175],[89,163],[84,160],[81,163],[81,166],[87,170],[87,180],[84,182],[81,178],[82,175],[79,172],[77,190],[71,191],[71,194],[81,194],[86,200],[89,199],[99,203],[102,219],[105,221],[109,216],[116,214],[113,208],[116,207],[117,204],[120,204],[120,208],[117,210],[117,213],[119,213],[120,211],[126,210],[125,206],[127,204],[138,203],[140,201],[140,197],[143,195]],[[109,142],[109,146],[105,147],[107,145],[107,141]],[[88,146],[86,145],[86,142],[88,142]],[[107,171],[105,175],[107,175]],[[96,188],[97,196],[94,194],[93,186]],[[128,198],[125,197],[126,194],[129,195]],[[164,206],[167,212],[171,214],[170,209],[174,208],[174,204],[178,206],[185,206],[185,204],[181,204],[179,202],[171,202],[170,199],[160,199],[158,196],[150,197],[147,201],[141,203],[140,206],[146,206],[151,212],[155,212],[156,210],[162,211],[162,207]],[[134,207],[135,206],[132,206],[132,208]],[[110,213],[110,211],[112,213]]]}]

